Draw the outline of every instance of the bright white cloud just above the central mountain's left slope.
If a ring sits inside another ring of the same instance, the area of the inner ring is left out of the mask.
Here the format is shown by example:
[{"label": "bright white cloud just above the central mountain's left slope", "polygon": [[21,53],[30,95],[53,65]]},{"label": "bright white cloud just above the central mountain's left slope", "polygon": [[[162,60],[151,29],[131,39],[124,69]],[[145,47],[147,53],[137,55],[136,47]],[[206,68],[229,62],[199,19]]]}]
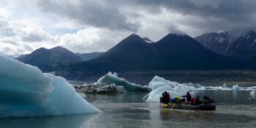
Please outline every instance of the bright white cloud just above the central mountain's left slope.
[{"label": "bright white cloud just above the central mountain's left slope", "polygon": [[105,51],[120,42],[130,33],[125,31],[110,31],[89,27],[74,34],[64,34],[60,37],[61,46],[78,53]]}]

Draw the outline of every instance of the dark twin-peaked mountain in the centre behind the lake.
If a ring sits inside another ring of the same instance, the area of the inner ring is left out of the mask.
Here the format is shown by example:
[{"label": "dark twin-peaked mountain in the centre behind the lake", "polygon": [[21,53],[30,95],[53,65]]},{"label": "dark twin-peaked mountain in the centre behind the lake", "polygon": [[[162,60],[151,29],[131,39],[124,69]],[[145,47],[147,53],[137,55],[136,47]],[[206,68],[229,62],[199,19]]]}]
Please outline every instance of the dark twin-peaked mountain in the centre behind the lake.
[{"label": "dark twin-peaked mountain in the centre behind the lake", "polygon": [[235,60],[211,52],[187,34],[167,34],[148,43],[137,34],[96,59],[72,64],[69,72],[131,72],[173,69],[233,69]]}]

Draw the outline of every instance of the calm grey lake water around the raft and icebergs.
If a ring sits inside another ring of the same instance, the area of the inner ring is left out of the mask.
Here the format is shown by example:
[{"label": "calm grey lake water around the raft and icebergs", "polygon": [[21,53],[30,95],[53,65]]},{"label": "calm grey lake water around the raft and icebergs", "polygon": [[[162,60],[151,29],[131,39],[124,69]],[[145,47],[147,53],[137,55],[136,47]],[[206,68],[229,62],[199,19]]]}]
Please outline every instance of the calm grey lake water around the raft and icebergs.
[{"label": "calm grey lake water around the raft and icebergs", "polygon": [[145,93],[88,94],[102,113],[41,118],[1,118],[0,128],[256,127],[256,99],[250,91],[197,91],[216,99],[217,110],[170,110],[143,101]]}]

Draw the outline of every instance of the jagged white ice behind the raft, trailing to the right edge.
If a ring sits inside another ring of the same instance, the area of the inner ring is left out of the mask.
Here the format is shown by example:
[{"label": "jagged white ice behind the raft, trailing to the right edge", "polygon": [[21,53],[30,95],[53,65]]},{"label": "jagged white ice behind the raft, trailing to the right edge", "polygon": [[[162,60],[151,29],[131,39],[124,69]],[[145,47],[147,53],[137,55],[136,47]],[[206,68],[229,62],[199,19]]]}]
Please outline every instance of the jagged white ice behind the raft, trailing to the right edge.
[{"label": "jagged white ice behind the raft, trailing to the right edge", "polygon": [[256,91],[256,86],[240,87],[238,85],[234,85],[230,88],[227,87],[226,83],[223,86],[200,86],[200,84],[181,84],[172,82],[170,80],[165,80],[165,78],[160,78],[159,76],[155,76],[148,86],[152,91],[143,98],[146,99],[147,102],[159,102],[159,98],[162,96],[164,91],[167,91],[170,94],[170,97],[185,95],[187,91]]}]

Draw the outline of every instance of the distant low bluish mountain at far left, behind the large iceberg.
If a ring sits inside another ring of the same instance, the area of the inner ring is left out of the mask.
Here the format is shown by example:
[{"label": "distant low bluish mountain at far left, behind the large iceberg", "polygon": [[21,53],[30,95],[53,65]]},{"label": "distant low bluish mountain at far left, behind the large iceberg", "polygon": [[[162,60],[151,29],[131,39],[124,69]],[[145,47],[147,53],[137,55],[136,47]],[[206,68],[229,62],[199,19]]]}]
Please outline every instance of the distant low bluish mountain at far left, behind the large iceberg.
[{"label": "distant low bluish mountain at far left, behind the large iceberg", "polygon": [[37,66],[43,72],[51,72],[63,67],[65,64],[83,61],[75,53],[59,46],[51,49],[39,48],[16,59],[23,63]]}]

